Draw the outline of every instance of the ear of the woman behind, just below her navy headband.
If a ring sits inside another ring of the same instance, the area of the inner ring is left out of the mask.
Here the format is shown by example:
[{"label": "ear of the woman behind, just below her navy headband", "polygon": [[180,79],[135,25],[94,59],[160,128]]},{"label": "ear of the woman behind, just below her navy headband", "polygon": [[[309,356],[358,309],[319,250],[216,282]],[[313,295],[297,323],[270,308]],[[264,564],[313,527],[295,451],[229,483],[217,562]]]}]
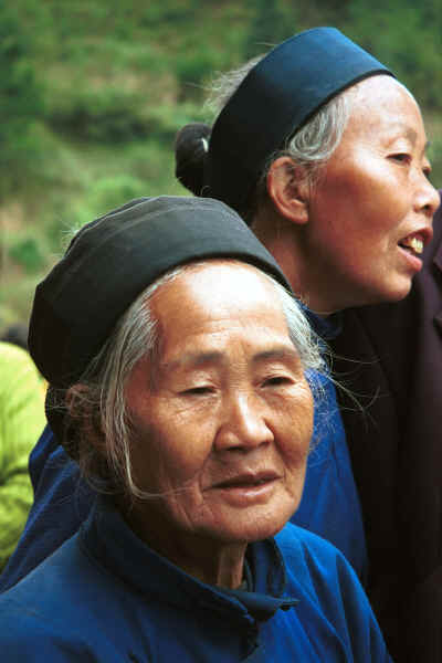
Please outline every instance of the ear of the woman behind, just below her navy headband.
[{"label": "ear of the woman behind, just below her navy headband", "polygon": [[269,197],[282,217],[297,224],[308,222],[309,187],[303,166],[288,156],[275,159],[266,185]]}]

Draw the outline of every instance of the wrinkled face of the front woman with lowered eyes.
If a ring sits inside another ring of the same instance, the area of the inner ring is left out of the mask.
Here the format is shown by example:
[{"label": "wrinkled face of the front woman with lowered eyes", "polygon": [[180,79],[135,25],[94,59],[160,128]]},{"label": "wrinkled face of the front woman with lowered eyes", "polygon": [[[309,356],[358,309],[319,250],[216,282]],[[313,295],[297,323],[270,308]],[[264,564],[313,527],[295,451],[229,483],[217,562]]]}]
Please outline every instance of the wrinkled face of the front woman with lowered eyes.
[{"label": "wrinkled face of the front woman with lowered eyes", "polygon": [[297,507],[313,402],[280,298],[255,269],[215,261],[162,285],[154,383],[148,359],[126,389],[133,464],[152,537],[265,538]]}]

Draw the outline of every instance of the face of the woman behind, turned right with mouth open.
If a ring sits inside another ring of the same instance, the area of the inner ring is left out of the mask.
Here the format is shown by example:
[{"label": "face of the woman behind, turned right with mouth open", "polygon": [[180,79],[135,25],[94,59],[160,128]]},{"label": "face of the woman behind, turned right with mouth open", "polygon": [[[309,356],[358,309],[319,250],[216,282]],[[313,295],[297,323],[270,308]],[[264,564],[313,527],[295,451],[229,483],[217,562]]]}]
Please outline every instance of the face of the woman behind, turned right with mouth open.
[{"label": "face of the woman behind, turned right with mouth open", "polygon": [[381,75],[348,95],[348,125],[309,200],[306,290],[318,312],[404,297],[439,204],[408,91]]}]

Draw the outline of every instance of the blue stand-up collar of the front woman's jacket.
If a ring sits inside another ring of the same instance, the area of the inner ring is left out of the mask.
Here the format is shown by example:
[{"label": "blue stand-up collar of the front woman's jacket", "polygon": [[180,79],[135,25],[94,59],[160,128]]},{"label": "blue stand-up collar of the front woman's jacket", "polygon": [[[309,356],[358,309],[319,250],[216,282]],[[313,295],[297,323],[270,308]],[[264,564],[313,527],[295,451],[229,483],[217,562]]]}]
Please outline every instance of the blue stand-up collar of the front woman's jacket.
[{"label": "blue stand-up collar of the front woman's jacket", "polygon": [[191,601],[239,624],[265,621],[297,603],[284,596],[285,566],[273,538],[249,545],[254,591],[223,590],[189,576],[141,541],[108,498],[96,499],[81,528],[80,545],[138,592],[164,601],[167,587],[168,602],[188,609]]}]

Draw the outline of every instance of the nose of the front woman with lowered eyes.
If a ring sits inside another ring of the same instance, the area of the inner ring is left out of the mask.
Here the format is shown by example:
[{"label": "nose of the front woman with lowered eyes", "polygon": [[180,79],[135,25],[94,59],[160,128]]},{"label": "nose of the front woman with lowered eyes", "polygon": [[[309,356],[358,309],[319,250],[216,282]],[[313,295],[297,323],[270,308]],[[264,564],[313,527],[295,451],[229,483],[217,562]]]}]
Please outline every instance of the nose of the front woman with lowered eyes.
[{"label": "nose of the front woman with lowered eyes", "polygon": [[246,452],[272,442],[273,432],[265,414],[265,406],[255,394],[233,394],[224,404],[215,438],[217,450]]}]

